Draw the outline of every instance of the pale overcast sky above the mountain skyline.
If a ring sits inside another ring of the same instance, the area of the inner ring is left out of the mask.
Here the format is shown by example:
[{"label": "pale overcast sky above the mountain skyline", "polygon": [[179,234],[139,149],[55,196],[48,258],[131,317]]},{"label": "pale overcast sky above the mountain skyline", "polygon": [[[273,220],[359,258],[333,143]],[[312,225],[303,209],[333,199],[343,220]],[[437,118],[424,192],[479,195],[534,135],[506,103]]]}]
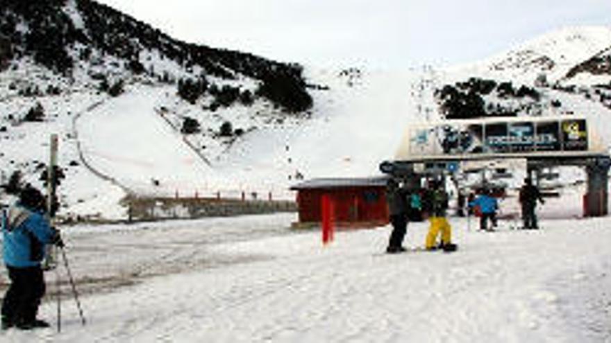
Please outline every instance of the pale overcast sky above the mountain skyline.
[{"label": "pale overcast sky above the mountain skyline", "polygon": [[611,0],[98,0],[174,38],[319,67],[471,62],[564,26],[611,26]]}]

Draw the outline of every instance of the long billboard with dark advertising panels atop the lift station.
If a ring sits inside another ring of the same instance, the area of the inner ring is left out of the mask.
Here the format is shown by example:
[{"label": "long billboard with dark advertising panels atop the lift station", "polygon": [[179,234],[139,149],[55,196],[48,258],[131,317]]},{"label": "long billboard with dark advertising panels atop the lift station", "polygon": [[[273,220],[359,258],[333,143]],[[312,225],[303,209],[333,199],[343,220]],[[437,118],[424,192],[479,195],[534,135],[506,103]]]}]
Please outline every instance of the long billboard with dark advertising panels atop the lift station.
[{"label": "long billboard with dark advertising panels atop the lift station", "polygon": [[589,152],[585,118],[494,118],[444,121],[408,127],[398,157],[452,155],[530,155],[537,152]]}]

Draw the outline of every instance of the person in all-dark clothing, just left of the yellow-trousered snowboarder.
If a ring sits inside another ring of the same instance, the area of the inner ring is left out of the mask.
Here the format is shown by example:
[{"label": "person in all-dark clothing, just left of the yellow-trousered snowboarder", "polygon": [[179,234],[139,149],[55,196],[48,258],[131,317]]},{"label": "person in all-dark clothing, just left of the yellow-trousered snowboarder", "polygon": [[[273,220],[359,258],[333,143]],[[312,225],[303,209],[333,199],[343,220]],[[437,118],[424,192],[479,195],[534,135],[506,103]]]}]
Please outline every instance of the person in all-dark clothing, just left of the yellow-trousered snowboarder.
[{"label": "person in all-dark clothing, just left of the yellow-trousered snowboarder", "polygon": [[404,252],[403,238],[408,229],[408,193],[395,179],[391,178],[386,182],[386,201],[392,225],[386,252]]}]

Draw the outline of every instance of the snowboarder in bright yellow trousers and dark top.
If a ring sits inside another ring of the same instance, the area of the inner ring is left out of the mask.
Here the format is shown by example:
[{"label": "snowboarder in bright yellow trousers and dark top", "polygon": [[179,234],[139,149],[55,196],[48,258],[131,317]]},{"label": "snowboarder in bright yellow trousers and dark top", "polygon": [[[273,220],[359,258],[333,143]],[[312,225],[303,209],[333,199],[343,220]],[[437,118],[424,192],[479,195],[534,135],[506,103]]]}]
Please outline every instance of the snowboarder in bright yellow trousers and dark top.
[{"label": "snowboarder in bright yellow trousers and dark top", "polygon": [[[427,250],[435,250],[438,247],[446,252],[454,251],[456,245],[452,243],[452,227],[446,219],[448,209],[448,193],[442,187],[440,180],[433,180],[424,194],[425,210],[428,213],[430,227],[426,235],[425,247]],[[441,244],[436,245],[437,235],[441,231]]]}]

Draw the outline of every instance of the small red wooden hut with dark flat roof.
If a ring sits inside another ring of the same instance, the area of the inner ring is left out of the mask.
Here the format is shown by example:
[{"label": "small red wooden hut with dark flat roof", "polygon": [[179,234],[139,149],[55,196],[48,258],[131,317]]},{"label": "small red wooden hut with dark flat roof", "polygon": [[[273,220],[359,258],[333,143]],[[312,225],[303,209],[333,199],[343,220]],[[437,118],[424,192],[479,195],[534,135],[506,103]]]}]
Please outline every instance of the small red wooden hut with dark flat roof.
[{"label": "small red wooden hut with dark flat roof", "polygon": [[333,203],[335,227],[378,227],[388,223],[387,177],[310,179],[291,187],[297,191],[299,222],[296,226],[319,225],[321,200]]}]

